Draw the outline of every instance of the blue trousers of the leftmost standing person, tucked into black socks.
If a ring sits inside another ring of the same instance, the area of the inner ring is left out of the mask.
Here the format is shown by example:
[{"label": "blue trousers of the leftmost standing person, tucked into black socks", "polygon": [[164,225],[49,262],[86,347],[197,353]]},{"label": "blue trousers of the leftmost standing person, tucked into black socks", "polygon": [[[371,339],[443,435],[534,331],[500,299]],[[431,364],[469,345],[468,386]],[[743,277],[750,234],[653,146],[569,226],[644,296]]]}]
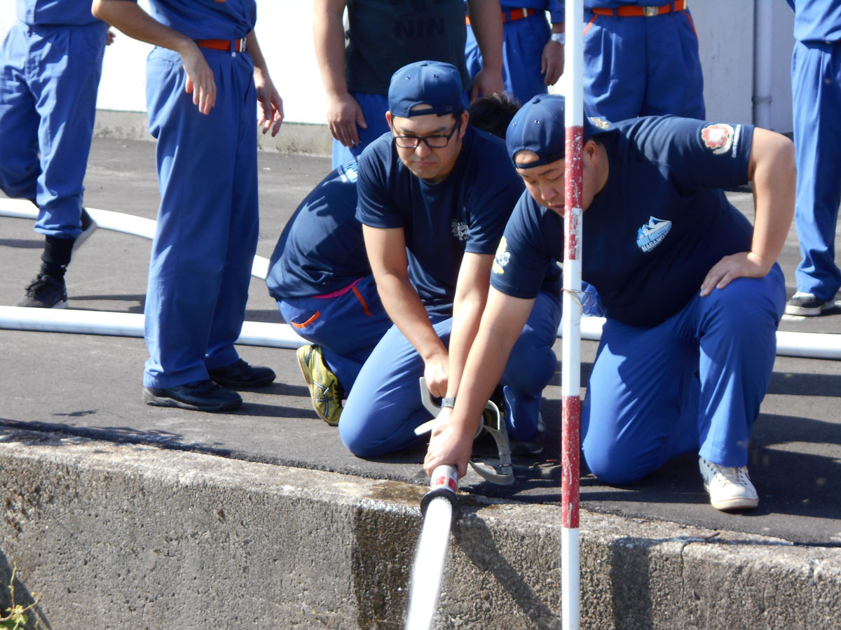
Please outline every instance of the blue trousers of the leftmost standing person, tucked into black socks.
[{"label": "blue trousers of the leftmost standing person, tucked into black socks", "polygon": [[34,199],[35,230],[75,239],[108,27],[12,25],[0,49],[0,188]]}]

